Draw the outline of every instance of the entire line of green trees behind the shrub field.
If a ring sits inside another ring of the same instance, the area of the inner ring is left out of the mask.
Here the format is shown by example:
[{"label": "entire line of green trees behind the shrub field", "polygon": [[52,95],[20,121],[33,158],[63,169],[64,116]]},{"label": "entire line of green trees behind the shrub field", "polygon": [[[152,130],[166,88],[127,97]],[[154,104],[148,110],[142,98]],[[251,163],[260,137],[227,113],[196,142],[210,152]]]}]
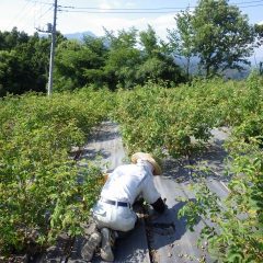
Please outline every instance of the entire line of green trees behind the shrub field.
[{"label": "entire line of green trees behind the shrub field", "polygon": [[[263,39],[263,25],[251,25],[227,0],[201,0],[194,11],[179,12],[168,41],[150,25],[141,32],[104,32],[81,42],[57,33],[55,90],[130,89],[149,80],[176,85],[192,78],[193,60],[205,78],[243,70]],[[16,27],[0,32],[0,96],[46,91],[49,46],[50,37],[38,33],[30,36]]]}]

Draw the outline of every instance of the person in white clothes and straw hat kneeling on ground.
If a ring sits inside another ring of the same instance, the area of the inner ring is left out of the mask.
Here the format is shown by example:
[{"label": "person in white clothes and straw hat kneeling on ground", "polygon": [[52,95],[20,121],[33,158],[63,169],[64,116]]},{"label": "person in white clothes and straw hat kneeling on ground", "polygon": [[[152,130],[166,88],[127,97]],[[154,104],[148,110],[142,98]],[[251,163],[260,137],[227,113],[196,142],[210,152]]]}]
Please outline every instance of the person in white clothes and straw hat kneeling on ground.
[{"label": "person in white clothes and straw hat kneeling on ground", "polygon": [[101,196],[92,209],[93,219],[100,232],[91,235],[91,242],[83,248],[83,258],[90,261],[101,243],[101,258],[114,261],[115,239],[134,229],[137,216],[133,205],[142,197],[156,211],[162,214],[165,204],[158,193],[153,175],[162,173],[158,161],[146,152],[132,156],[132,163],[117,167],[108,174]]}]

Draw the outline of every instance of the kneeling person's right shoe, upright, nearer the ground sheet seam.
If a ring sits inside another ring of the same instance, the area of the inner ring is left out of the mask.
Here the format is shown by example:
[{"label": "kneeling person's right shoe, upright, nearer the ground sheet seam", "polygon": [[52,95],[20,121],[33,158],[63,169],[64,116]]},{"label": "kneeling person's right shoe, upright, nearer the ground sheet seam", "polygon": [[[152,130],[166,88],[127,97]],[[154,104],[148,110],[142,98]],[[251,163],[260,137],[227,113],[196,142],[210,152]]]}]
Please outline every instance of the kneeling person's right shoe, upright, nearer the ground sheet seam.
[{"label": "kneeling person's right shoe, upright, nearer the ground sheet seam", "polygon": [[104,261],[112,262],[114,261],[114,254],[112,248],[115,242],[114,232],[112,232],[108,228],[102,228],[102,247],[101,247],[101,258]]}]

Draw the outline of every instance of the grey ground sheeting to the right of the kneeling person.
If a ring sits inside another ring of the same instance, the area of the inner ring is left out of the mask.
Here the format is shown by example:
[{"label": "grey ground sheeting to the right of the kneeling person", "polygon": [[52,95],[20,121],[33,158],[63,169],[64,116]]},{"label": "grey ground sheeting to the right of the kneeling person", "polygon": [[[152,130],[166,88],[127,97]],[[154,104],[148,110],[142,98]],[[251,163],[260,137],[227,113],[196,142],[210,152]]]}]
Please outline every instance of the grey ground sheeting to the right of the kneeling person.
[{"label": "grey ground sheeting to the right of the kneeling person", "polygon": [[[186,229],[185,220],[178,219],[176,214],[184,205],[178,197],[193,198],[188,185],[192,180],[192,170],[187,165],[197,161],[203,161],[213,170],[207,179],[210,191],[219,197],[228,194],[226,179],[224,176],[224,159],[227,152],[221,145],[228,137],[228,133],[219,129],[211,132],[213,138],[210,147],[205,153],[191,157],[184,160],[165,160],[163,175],[155,179],[155,183],[163,198],[167,198],[169,209],[157,219],[151,220],[150,248],[152,251],[152,262],[158,263],[185,263],[185,262],[214,262],[209,256],[196,245],[201,229],[205,221],[201,218],[195,231]],[[157,226],[157,227],[156,227]],[[158,228],[159,227],[159,228]],[[169,231],[170,228],[170,231]]]}]

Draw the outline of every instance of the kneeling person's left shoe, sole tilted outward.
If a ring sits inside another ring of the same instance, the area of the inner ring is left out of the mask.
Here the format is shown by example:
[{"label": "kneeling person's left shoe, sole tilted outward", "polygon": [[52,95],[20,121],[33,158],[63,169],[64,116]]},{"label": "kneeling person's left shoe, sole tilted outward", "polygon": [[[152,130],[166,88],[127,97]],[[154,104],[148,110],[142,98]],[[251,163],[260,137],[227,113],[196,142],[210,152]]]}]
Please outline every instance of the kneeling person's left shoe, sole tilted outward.
[{"label": "kneeling person's left shoe, sole tilted outward", "polygon": [[102,240],[100,232],[93,232],[89,237],[89,240],[85,242],[83,248],[81,249],[81,256],[85,261],[91,261],[96,248],[100,245]]}]

